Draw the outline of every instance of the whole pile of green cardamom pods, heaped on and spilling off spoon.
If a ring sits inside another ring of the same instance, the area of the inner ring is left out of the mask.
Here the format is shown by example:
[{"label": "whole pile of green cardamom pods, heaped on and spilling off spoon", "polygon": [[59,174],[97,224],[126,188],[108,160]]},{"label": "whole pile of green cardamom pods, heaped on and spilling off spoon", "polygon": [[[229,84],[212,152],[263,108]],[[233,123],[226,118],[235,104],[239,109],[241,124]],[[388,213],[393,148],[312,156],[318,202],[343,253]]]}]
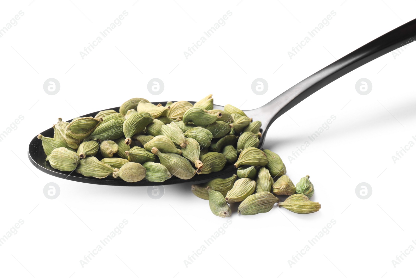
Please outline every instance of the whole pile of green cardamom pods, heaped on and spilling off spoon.
[{"label": "whole pile of green cardamom pods, heaped on and spilling off spoon", "polygon": [[[119,112],[104,110],[70,123],[59,118],[53,138],[37,138],[54,169],[132,183],[163,182],[172,175],[188,180],[235,163],[237,175],[192,185],[193,193],[209,200],[212,212],[221,217],[231,215],[228,203],[235,202],[242,202],[238,211],[244,215],[269,211],[279,202],[271,190],[290,195],[279,203],[288,210],[319,210],[319,203],[309,200],[314,193],[309,176],[295,187],[279,155],[257,148],[260,127],[260,121],[253,122],[233,105],[213,109],[212,95],[195,104],[177,101],[165,106],[132,98]],[[272,175],[280,178],[274,183]]]}]

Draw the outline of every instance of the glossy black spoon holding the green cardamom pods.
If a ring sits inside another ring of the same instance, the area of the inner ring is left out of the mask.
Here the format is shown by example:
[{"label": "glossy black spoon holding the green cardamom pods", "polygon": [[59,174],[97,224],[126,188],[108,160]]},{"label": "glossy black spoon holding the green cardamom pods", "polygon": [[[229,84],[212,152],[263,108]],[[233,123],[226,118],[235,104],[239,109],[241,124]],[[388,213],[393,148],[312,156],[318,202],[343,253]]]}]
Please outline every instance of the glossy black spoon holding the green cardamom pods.
[{"label": "glossy black spoon holding the green cardamom pods", "polygon": [[[284,93],[278,95],[275,99],[269,103],[263,105],[260,108],[245,111],[246,114],[253,118],[254,120],[260,120],[262,122],[262,137],[260,139],[259,148],[263,145],[267,130],[270,128],[270,125],[279,118],[281,115],[287,112],[290,108],[294,107],[300,103],[305,98],[309,97],[317,90],[323,88],[334,80],[337,80],[341,76],[349,73],[360,66],[379,58],[380,56],[389,53],[396,48],[405,46],[408,43],[412,43],[416,39],[416,19],[401,25],[400,27],[391,30],[389,33],[386,33],[379,38],[367,43],[366,45],[354,50],[352,53],[342,57],[336,62],[326,66],[322,70],[317,71],[312,74],[310,77],[305,78],[301,82],[297,83],[292,88],[286,90]],[[195,103],[190,101],[191,103]],[[154,104],[158,104],[154,103]],[[166,102],[161,102],[162,105],[166,105]],[[119,111],[119,108],[108,108]],[[223,106],[214,105],[214,109],[223,110]],[[82,117],[92,116],[94,117],[97,113],[90,113],[83,115]],[[68,122],[70,122],[69,120]],[[53,137],[53,128],[43,131],[41,134],[46,137]],[[37,137],[33,138],[29,145],[28,156],[30,162],[35,165],[36,168],[41,171],[54,175],[59,178],[64,178],[67,180],[75,180],[82,183],[93,183],[93,184],[102,184],[102,185],[124,185],[124,186],[153,186],[153,185],[169,185],[176,183],[203,183],[213,178],[230,176],[235,173],[236,169],[232,163],[227,163],[223,170],[210,174],[201,174],[195,175],[190,180],[181,180],[180,178],[172,177],[163,183],[149,182],[146,180],[141,180],[136,183],[127,183],[123,180],[116,180],[112,178],[89,178],[84,177],[80,174],[67,172],[61,172],[50,166],[50,164],[45,161],[46,155],[42,148],[41,140]]]}]

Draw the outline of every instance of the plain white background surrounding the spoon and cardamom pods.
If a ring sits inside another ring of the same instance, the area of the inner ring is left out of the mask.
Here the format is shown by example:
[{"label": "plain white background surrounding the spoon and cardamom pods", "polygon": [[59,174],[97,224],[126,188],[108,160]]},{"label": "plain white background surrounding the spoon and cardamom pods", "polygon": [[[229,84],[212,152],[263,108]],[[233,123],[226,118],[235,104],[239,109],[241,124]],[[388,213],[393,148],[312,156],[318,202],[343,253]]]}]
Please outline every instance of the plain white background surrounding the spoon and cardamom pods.
[{"label": "plain white background surrounding the spoon and cardamom pods", "polygon": [[[401,251],[416,247],[416,148],[392,155],[415,132],[416,44],[354,70],[307,98],[271,126],[264,147],[280,154],[296,183],[309,174],[318,213],[283,208],[254,216],[214,216],[190,186],[169,185],[154,200],[148,188],[63,180],[30,164],[30,140],[58,117],[69,120],[119,106],[124,100],[199,100],[243,110],[260,107],[315,71],[414,18],[414,1],[2,1],[0,28],[25,14],[0,38],[0,133],[24,116],[0,142],[0,236],[24,224],[0,246],[4,277],[399,277],[413,273],[416,251],[394,267]],[[79,52],[126,10],[129,14],[84,59]],[[226,12],[233,14],[188,59],[183,52]],[[287,52],[336,12],[292,59]],[[398,52],[397,52],[398,53]],[[59,80],[47,95],[43,83]],[[151,95],[160,78],[165,90]],[[269,90],[255,95],[264,78]],[[355,83],[371,80],[359,95]],[[288,155],[331,117],[336,120],[292,163]],[[58,198],[43,195],[57,183]],[[366,182],[370,198],[357,197]],[[139,209],[138,209],[139,208]],[[82,267],[80,260],[126,219],[128,224]],[[319,242],[332,219],[336,224]],[[232,220],[212,245],[204,240]],[[206,250],[188,267],[188,255]],[[300,260],[288,260],[310,246]]]}]

